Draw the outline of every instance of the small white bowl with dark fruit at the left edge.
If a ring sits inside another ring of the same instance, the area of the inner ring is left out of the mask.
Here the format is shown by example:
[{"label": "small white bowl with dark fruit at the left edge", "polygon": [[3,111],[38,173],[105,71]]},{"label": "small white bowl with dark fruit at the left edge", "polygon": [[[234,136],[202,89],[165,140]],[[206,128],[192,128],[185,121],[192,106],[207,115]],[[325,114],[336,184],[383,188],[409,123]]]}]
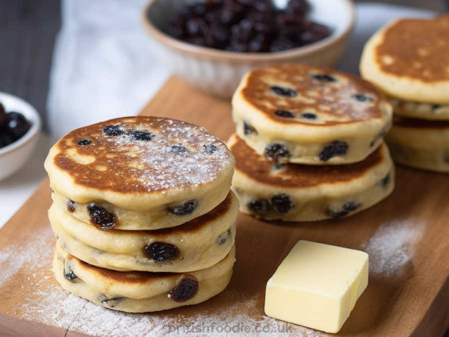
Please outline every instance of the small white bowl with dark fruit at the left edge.
[{"label": "small white bowl with dark fruit at the left edge", "polygon": [[26,163],[39,133],[37,111],[23,99],[0,92],[0,180]]}]

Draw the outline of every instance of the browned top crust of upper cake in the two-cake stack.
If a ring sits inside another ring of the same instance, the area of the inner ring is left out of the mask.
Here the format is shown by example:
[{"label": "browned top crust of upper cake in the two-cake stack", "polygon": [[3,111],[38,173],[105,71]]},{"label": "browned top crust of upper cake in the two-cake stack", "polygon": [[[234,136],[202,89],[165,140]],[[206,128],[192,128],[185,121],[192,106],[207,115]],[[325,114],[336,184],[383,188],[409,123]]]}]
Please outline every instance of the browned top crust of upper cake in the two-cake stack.
[{"label": "browned top crust of upper cake in the two-cake stack", "polygon": [[[311,74],[330,75],[338,81],[320,81]],[[288,87],[294,89],[298,96],[280,97],[273,94],[268,81],[280,85],[288,83]],[[374,101],[358,102],[353,98],[354,94],[368,94]],[[302,64],[280,64],[251,71],[241,89],[241,97],[266,117],[284,124],[330,126],[382,118],[384,115],[381,106],[384,95],[368,81],[332,69]],[[297,114],[316,112],[329,119],[311,122],[302,118],[284,118],[274,113],[278,109]]]}]

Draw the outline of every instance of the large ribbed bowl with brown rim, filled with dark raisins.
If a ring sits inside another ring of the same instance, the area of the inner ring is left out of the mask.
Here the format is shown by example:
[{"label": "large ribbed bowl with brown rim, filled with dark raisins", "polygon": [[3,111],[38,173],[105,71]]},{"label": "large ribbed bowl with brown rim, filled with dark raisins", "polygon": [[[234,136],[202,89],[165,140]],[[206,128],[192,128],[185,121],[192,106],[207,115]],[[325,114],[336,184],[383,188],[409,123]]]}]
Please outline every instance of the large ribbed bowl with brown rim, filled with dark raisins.
[{"label": "large ribbed bowl with brown rim, filled with dark raisins", "polygon": [[158,58],[223,98],[255,67],[334,66],[354,22],[351,0],[151,0],[143,11]]}]

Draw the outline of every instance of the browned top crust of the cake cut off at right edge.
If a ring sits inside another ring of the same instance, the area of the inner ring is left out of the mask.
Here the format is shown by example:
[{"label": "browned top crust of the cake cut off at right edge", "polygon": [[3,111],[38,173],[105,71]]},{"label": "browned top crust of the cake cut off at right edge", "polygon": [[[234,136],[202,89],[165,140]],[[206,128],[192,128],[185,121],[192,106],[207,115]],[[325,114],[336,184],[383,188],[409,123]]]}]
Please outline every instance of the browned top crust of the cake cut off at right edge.
[{"label": "browned top crust of the cake cut off at right edge", "polygon": [[449,80],[449,15],[398,20],[384,32],[375,53],[388,74],[422,82]]}]

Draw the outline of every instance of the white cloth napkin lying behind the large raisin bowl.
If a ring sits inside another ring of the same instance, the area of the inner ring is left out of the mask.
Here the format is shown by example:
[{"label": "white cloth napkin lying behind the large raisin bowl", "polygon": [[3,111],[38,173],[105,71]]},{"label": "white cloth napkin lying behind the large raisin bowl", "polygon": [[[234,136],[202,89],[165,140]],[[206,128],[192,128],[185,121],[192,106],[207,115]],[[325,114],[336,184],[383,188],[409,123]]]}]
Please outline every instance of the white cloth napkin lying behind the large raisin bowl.
[{"label": "white cloth napkin lying behind the large raisin bowl", "polygon": [[[83,125],[137,114],[167,79],[168,70],[154,58],[141,24],[147,1],[62,1],[47,101],[52,139]],[[357,24],[339,68],[357,72],[363,44],[384,23],[423,15],[431,12],[358,4]]]}]

